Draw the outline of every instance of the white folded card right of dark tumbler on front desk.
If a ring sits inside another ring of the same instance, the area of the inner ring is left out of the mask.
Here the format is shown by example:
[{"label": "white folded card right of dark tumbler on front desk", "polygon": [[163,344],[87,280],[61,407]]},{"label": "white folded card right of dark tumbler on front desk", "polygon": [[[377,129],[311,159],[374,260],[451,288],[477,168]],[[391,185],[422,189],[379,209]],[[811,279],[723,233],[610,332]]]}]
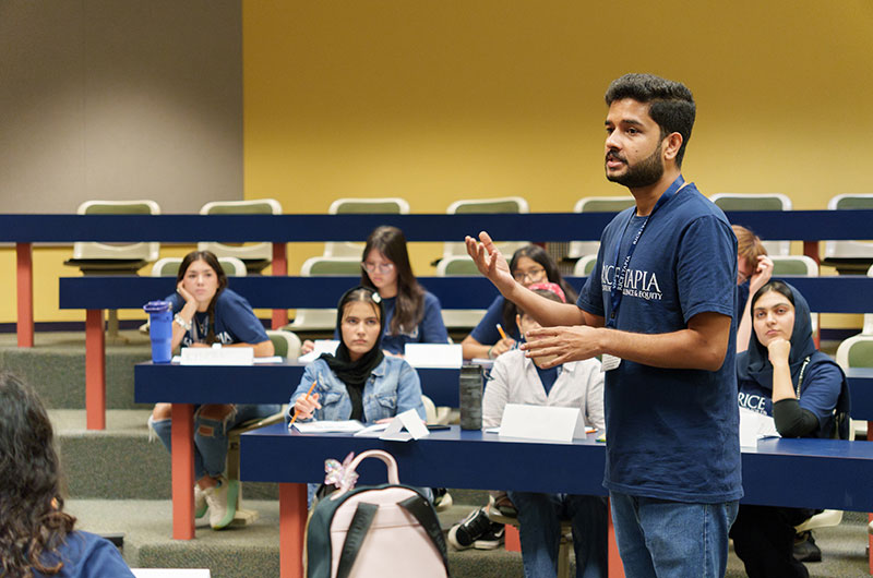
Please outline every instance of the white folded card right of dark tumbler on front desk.
[{"label": "white folded card right of dark tumbler on front desk", "polygon": [[500,436],[570,443],[584,439],[587,434],[579,408],[506,404],[500,423]]}]

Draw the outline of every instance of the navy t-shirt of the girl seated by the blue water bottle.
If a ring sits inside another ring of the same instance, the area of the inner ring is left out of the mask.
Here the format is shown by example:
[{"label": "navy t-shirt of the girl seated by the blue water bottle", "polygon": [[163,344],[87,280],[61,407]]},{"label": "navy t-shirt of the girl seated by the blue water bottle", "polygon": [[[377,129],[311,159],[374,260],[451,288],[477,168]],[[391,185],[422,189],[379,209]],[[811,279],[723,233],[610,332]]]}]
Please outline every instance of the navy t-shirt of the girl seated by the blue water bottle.
[{"label": "navy t-shirt of the girl seated by the blue water bottle", "polygon": [[[184,306],[184,299],[179,293],[167,298],[172,303],[172,312],[178,313]],[[196,312],[191,320],[191,329],[182,337],[182,347],[195,341],[204,341],[210,329],[208,313]],[[218,293],[215,302],[215,339],[223,345],[260,344],[270,340],[264,326],[255,317],[249,302],[239,293],[225,289]]]}]

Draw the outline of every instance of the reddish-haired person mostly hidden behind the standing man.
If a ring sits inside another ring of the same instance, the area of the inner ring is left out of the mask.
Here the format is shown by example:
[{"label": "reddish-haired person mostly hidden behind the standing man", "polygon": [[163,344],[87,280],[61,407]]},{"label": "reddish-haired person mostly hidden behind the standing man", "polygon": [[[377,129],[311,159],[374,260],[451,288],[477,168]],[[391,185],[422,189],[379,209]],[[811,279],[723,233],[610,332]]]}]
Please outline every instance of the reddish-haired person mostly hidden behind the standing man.
[{"label": "reddish-haired person mostly hidden behind the standing man", "polygon": [[737,352],[741,353],[749,347],[749,337],[752,335],[752,299],[755,292],[770,280],[773,275],[773,261],[767,256],[767,250],[761,239],[740,225],[732,225],[733,234],[737,236]]}]

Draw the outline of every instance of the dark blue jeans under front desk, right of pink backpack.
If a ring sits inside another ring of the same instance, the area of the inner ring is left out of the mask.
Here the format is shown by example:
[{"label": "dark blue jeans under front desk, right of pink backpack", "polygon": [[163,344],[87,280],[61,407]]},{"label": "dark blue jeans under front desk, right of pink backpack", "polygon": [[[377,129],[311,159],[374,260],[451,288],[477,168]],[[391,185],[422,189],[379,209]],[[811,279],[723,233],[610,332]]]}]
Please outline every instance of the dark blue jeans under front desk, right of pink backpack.
[{"label": "dark blue jeans under front desk, right of pink backpack", "polygon": [[518,510],[518,533],[526,578],[557,576],[562,519],[571,520],[573,526],[576,578],[606,577],[607,505],[602,497],[506,493]]}]

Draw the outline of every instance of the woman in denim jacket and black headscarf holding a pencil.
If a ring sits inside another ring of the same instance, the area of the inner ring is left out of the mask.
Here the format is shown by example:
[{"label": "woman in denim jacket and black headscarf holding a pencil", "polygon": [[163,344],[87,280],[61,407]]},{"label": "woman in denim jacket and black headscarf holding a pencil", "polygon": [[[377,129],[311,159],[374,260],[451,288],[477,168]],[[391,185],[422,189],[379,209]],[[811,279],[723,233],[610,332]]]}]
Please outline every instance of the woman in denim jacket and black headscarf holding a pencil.
[{"label": "woman in denim jacket and black headscarf holding a pencil", "polygon": [[336,310],[336,354],[323,353],[307,365],[291,395],[289,417],[373,423],[415,409],[424,419],[418,373],[406,360],[382,351],[383,302],[369,287],[343,294]]}]

